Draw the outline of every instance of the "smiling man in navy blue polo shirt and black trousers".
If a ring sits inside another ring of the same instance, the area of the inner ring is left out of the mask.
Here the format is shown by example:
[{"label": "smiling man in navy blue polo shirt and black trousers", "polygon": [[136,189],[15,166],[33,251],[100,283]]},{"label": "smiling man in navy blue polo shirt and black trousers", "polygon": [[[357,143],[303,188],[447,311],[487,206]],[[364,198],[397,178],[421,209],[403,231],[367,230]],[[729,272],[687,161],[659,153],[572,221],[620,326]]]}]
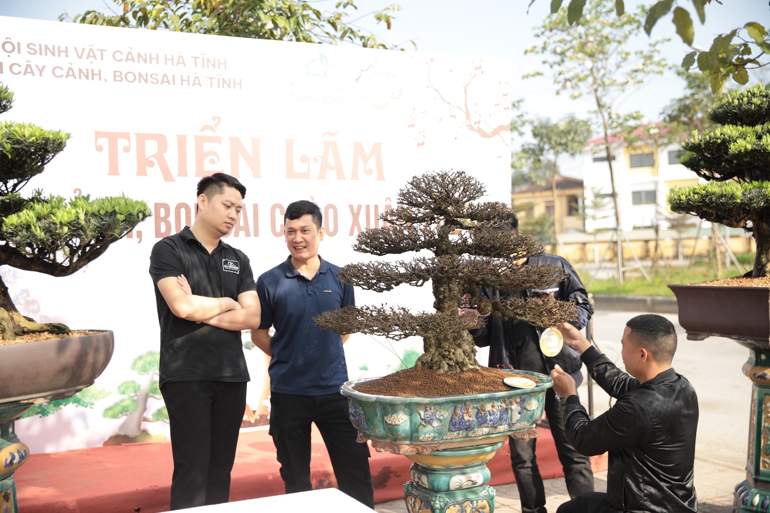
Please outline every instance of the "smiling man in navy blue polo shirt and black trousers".
[{"label": "smiling man in navy blue polo shirt and black trousers", "polygon": [[[353,287],[337,279],[336,265],[318,255],[323,218],[318,205],[293,202],[283,217],[290,256],[259,276],[262,307],[254,345],[270,356],[270,435],[281,464],[286,493],[308,491],[310,425],[323,436],[337,485],[347,495],[374,507],[369,448],[356,441],[347,399],[343,344],[350,335],[320,329],[313,318],[323,311],[354,305]],[[273,326],[275,335],[268,329]]]}]

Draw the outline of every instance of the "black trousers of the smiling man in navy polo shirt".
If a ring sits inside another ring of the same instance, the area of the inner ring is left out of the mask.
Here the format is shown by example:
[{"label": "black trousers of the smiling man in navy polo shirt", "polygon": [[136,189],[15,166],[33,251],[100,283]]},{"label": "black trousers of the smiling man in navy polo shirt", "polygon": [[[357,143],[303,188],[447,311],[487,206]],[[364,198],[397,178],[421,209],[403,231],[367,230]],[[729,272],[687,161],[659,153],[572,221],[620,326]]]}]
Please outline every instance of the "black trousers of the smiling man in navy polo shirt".
[{"label": "black trousers of the smiling man in navy polo shirt", "polygon": [[276,445],[286,493],[309,491],[310,424],[316,423],[329,451],[337,486],[350,497],[374,508],[369,446],[356,441],[347,399],[340,394],[270,395],[270,435]]}]

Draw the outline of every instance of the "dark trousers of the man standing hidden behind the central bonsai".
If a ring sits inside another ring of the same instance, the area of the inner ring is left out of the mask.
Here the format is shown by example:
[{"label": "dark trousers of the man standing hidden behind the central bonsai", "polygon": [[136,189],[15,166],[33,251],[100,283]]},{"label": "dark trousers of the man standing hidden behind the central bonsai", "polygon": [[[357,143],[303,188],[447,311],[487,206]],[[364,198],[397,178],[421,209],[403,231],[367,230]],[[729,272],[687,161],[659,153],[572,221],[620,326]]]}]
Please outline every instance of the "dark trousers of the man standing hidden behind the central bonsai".
[{"label": "dark trousers of the man standing hidden behind the central bonsai", "polygon": [[[591,460],[581,455],[572,447],[564,428],[564,398],[556,400],[553,388],[548,388],[545,394],[545,416],[551,425],[551,435],[554,437],[556,452],[564,468],[564,480],[567,481],[567,491],[570,497],[594,491],[594,473],[591,471]],[[546,513],[545,489],[540,469],[537,468],[535,445],[537,438],[530,441],[518,441],[508,438],[511,445],[511,465],[516,476],[516,486],[521,498],[521,513]]]}]

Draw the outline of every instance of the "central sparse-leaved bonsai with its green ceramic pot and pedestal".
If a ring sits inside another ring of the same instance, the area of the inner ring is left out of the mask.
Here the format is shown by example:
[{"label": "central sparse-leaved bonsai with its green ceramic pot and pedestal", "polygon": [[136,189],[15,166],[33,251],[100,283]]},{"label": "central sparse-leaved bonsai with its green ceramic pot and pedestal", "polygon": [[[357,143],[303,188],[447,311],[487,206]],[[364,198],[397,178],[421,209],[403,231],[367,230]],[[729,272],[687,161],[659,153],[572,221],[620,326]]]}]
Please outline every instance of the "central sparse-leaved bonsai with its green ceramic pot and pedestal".
[{"label": "central sparse-leaved bonsai with its green ceramic pot and pedestal", "polygon": [[[348,306],[316,318],[322,328],[340,334],[423,339],[423,355],[413,368],[341,388],[359,441],[368,439],[377,451],[414,462],[412,481],[404,485],[408,511],[492,511],[495,492],[487,485],[486,462],[509,435],[537,436],[534,425],[552,385],[546,375],[479,365],[468,330],[479,328],[484,318],[459,315],[461,304],[482,315],[540,326],[574,319],[568,302],[480,295],[480,287],[521,291],[563,279],[554,265],[517,265],[543,249],[529,235],[497,230],[511,208],[477,202],[484,194],[484,185],[464,172],[412,178],[397,197],[400,206],[380,216],[383,227],[360,233],[353,248],[377,256],[418,255],[340,268],[340,281],[367,290],[430,284],[433,311]],[[506,377],[524,378],[531,388],[511,388]]]}]

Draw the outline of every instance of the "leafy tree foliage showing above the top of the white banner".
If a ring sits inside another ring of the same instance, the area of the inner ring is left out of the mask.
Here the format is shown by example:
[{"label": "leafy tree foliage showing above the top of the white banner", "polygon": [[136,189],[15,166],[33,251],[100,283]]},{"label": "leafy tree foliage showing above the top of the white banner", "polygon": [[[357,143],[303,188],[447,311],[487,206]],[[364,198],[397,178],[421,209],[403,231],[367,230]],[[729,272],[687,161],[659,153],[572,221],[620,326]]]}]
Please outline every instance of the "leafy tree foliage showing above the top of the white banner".
[{"label": "leafy tree foliage showing above the top of the white banner", "polygon": [[[86,25],[150,28],[196,34],[231,35],[239,38],[274,39],[305,43],[339,44],[350,42],[364,48],[388,47],[373,34],[367,34],[349,20],[357,10],[353,0],[340,0],[331,12],[323,12],[314,2],[302,0],[112,0],[118,11],[112,15],[86,11],[60,21]],[[105,2],[106,4],[106,2]],[[389,5],[373,12],[378,23],[390,28],[391,13],[400,11]],[[363,18],[363,16],[362,16]],[[413,43],[413,42],[412,42]],[[414,43],[413,43],[414,44]],[[417,48],[417,45],[415,45]]]}]

